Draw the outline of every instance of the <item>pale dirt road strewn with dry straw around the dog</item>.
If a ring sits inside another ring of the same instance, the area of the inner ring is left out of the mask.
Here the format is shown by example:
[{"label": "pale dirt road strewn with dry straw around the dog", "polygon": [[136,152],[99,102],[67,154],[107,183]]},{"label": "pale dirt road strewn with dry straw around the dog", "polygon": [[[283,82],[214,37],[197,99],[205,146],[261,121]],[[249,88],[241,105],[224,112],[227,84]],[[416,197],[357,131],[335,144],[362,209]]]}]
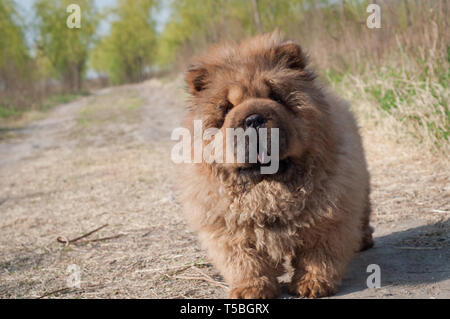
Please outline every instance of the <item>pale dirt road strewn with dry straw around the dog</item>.
[{"label": "pale dirt road strewn with dry straw around the dog", "polygon": [[[0,298],[226,295],[173,193],[176,83],[104,89],[0,138]],[[450,298],[448,161],[376,128],[362,134],[376,246],[357,255],[334,298]],[[381,288],[367,288],[369,264]],[[79,287],[68,287],[70,265]]]}]

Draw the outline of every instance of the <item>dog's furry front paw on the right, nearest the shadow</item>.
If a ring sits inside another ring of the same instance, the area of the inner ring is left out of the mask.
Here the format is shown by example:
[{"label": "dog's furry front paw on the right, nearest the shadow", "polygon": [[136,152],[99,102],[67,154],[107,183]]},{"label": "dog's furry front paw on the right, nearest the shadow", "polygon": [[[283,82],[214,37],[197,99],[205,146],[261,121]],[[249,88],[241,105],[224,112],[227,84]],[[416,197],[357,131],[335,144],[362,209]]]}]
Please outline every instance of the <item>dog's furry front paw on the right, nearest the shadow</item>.
[{"label": "dog's furry front paw on the right, nearest the shadow", "polygon": [[289,293],[305,298],[320,298],[334,295],[337,287],[334,283],[316,278],[309,274],[292,282],[289,286]]}]

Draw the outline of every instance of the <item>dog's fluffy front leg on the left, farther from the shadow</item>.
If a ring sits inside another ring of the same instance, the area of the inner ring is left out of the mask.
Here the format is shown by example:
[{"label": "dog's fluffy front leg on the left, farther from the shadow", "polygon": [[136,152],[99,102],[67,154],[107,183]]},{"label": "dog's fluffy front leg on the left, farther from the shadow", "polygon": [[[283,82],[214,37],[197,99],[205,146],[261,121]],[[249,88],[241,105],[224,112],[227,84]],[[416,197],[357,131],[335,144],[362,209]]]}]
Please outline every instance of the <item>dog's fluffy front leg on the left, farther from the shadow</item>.
[{"label": "dog's fluffy front leg on the left, farther from the shadow", "polygon": [[268,256],[246,243],[204,242],[212,262],[230,287],[229,298],[270,299],[279,295],[277,272]]}]

